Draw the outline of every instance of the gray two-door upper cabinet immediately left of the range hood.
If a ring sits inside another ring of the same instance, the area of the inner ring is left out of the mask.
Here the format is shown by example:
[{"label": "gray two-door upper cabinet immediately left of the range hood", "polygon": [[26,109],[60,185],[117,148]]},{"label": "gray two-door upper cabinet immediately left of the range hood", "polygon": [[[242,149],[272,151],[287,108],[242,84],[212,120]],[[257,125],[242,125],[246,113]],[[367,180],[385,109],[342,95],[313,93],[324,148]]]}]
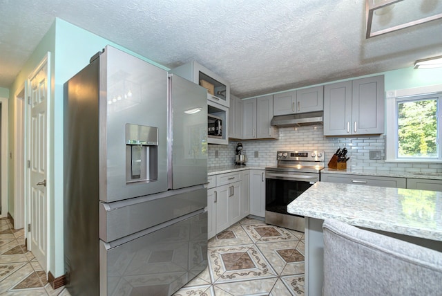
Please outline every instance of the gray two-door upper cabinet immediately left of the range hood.
[{"label": "gray two-door upper cabinet immediately left of the range hood", "polygon": [[278,128],[270,125],[273,117],[273,96],[265,95],[243,101],[242,139],[277,139]]}]

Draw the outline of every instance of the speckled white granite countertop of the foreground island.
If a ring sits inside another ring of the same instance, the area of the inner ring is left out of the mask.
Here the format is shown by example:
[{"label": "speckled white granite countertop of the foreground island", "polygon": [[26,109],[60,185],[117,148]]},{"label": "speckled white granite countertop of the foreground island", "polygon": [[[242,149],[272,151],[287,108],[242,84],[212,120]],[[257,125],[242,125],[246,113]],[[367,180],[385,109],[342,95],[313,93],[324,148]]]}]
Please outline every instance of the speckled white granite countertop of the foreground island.
[{"label": "speckled white granite countertop of the foreground island", "polygon": [[287,212],[442,241],[442,192],[317,182]]}]

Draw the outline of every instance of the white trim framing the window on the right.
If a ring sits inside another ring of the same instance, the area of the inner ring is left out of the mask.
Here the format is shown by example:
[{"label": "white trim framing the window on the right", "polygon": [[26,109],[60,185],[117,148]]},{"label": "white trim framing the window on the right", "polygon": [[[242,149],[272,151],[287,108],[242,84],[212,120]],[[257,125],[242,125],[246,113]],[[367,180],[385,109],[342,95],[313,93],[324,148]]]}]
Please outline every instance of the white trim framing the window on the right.
[{"label": "white trim framing the window on the right", "polygon": [[[439,151],[439,159],[434,158],[397,158],[397,143],[396,143],[396,99],[398,98],[412,98],[421,95],[430,95],[442,92],[442,84],[432,86],[416,87],[414,89],[399,89],[394,91],[386,91],[385,93],[385,162],[399,162],[399,163],[442,163],[440,158],[441,151]],[[439,104],[438,104],[438,108]],[[439,111],[438,109],[438,111]],[[442,111],[442,110],[441,110]],[[442,122],[442,115],[438,113],[438,122]],[[440,123],[439,123],[440,127]],[[439,133],[442,131],[439,130]],[[442,150],[442,137],[438,135],[439,150]]]}]

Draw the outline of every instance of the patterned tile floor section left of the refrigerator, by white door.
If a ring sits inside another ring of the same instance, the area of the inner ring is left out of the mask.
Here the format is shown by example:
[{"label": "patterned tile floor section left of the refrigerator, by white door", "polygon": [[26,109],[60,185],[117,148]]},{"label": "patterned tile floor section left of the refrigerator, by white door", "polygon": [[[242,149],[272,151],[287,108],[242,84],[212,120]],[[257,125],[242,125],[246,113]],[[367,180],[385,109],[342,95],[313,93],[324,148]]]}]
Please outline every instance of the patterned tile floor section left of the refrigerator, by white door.
[{"label": "patterned tile floor section left of the refrigerator, by white door", "polygon": [[68,296],[66,288],[52,289],[46,272],[26,249],[24,230],[0,219],[0,295]]}]

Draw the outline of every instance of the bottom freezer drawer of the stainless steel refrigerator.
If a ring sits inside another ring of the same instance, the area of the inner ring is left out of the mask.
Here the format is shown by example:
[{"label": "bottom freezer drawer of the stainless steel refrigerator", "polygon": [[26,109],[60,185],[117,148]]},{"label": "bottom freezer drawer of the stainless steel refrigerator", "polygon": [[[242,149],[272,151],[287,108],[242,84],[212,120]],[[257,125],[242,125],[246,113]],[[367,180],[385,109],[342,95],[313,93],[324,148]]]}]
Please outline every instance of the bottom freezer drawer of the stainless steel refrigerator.
[{"label": "bottom freezer drawer of the stainless steel refrigerator", "polygon": [[207,266],[207,212],[119,246],[99,245],[99,295],[172,295]]}]

